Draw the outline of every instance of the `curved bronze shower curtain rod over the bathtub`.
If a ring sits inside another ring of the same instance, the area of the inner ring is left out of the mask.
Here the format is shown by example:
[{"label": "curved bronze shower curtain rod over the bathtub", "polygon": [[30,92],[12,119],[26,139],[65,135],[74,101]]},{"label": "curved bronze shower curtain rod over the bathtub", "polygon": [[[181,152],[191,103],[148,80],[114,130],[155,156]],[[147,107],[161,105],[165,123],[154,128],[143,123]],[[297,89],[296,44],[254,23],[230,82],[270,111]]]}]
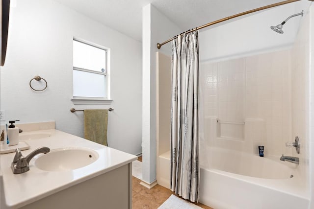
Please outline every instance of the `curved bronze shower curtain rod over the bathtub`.
[{"label": "curved bronze shower curtain rod over the bathtub", "polygon": [[[202,26],[199,26],[199,27],[196,27],[194,29],[191,29],[191,30],[188,30],[188,31],[185,31],[183,33],[191,33],[191,32],[194,32],[196,30],[199,30],[199,29],[202,29],[204,27],[208,27],[210,25],[213,25],[213,24],[216,24],[216,23],[221,23],[221,22],[224,22],[224,21],[227,21],[227,20],[230,20],[230,19],[233,19],[233,18],[236,18],[236,17],[240,17],[242,15],[247,15],[247,14],[250,14],[250,13],[253,13],[253,12],[257,12],[257,11],[261,11],[261,10],[264,10],[264,9],[268,9],[268,8],[272,8],[272,7],[275,7],[275,6],[280,6],[280,5],[283,5],[283,4],[287,4],[287,3],[292,3],[292,2],[295,2],[295,1],[299,1],[299,0],[285,0],[285,1],[281,1],[281,2],[278,2],[278,3],[273,3],[273,4],[269,4],[267,6],[262,6],[262,7],[259,7],[259,8],[256,8],[256,9],[252,9],[252,10],[249,10],[249,11],[246,11],[246,12],[241,12],[241,13],[238,13],[236,15],[233,15],[233,16],[229,16],[229,17],[226,17],[226,18],[222,18],[220,20],[216,20],[214,22],[211,22],[211,23],[207,23],[207,24],[204,24]],[[314,0],[310,0],[310,1],[314,1]],[[173,38],[165,41],[165,42],[162,42],[161,44],[157,43],[157,48],[160,49],[160,47],[164,44],[167,44],[168,42],[174,40],[175,38],[177,38],[179,35],[176,35],[174,36]]]}]

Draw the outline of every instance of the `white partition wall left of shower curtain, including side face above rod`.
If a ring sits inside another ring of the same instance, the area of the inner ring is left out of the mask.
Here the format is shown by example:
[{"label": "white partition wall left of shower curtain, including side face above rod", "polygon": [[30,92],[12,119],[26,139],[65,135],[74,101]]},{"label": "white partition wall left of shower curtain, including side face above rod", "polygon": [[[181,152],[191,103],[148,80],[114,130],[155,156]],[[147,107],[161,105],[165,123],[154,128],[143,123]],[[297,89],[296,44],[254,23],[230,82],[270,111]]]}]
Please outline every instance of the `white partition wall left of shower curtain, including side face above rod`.
[{"label": "white partition wall left of shower curtain, including side face above rod", "polygon": [[[156,180],[156,52],[158,51],[156,44],[168,40],[181,31],[153,5],[148,4],[143,7],[142,180],[148,184]],[[162,46],[160,51],[171,54],[171,44]]]}]

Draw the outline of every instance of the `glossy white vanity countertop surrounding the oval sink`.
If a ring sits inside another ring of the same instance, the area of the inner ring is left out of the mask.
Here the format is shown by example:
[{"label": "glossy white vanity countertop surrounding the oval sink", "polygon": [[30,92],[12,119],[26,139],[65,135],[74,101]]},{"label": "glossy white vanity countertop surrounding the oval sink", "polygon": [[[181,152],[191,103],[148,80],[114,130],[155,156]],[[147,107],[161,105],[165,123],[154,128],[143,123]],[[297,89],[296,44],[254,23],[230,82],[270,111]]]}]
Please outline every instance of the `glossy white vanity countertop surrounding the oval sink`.
[{"label": "glossy white vanity countertop surrounding the oval sink", "polygon": [[27,156],[33,150],[42,146],[47,146],[51,150],[65,147],[87,147],[98,152],[99,159],[94,163],[75,170],[44,171],[34,165],[35,157],[29,163],[29,171],[21,174],[13,174],[11,163],[15,153],[1,154],[0,174],[2,174],[5,202],[8,208],[23,207],[137,159],[135,155],[55,129],[28,133],[49,133],[51,136],[42,139],[26,140],[30,145],[30,149],[22,151],[23,156]]}]

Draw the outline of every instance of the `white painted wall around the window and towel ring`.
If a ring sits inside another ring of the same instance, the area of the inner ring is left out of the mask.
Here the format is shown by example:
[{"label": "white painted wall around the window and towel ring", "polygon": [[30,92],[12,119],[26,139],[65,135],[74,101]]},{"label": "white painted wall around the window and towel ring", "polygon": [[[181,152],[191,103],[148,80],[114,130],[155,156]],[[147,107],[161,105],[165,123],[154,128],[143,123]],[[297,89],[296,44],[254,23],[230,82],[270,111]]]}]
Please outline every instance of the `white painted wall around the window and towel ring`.
[{"label": "white painted wall around the window and towel ring", "polygon": [[[114,18],[114,17],[113,17]],[[111,50],[110,105],[74,105],[72,40],[78,37]],[[55,120],[56,129],[83,136],[83,113],[107,109],[110,147],[139,154],[142,141],[141,43],[52,0],[17,0],[10,11],[8,49],[1,75],[1,110],[21,123]],[[28,83],[48,82],[44,92]]]}]

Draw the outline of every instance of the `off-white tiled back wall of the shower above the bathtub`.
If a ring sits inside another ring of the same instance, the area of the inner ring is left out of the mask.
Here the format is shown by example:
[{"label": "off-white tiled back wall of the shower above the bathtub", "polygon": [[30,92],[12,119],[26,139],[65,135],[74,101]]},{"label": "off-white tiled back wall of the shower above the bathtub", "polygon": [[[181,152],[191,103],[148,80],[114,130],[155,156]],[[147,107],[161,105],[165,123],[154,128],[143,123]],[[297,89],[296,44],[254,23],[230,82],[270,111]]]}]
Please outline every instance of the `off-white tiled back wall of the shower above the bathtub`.
[{"label": "off-white tiled back wall of the shower above the bathtub", "polygon": [[257,146],[264,145],[265,155],[292,153],[285,147],[286,141],[292,141],[289,57],[287,49],[201,63],[207,144],[256,154]]}]

